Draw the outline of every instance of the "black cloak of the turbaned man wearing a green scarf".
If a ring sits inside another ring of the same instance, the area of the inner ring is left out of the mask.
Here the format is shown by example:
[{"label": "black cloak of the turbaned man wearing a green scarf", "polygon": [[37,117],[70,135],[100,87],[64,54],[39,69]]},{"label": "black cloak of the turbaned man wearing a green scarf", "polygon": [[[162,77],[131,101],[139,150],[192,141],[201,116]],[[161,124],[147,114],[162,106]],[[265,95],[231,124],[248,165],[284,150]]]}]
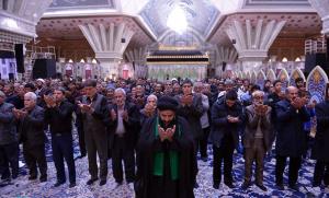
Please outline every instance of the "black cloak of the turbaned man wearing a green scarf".
[{"label": "black cloak of the turbaned man wearing a green scarf", "polygon": [[[151,191],[155,191],[155,189],[150,189],[151,186],[156,186],[151,184],[155,177],[152,175],[154,158],[159,148],[162,148],[162,142],[155,136],[155,121],[156,117],[148,119],[144,124],[137,144],[136,198],[156,198],[151,195]],[[193,186],[197,166],[192,133],[184,118],[178,117],[178,124],[181,126],[181,136],[172,142],[168,142],[170,149],[179,153],[178,197],[194,198]],[[168,172],[164,171],[164,173]],[[168,176],[166,177],[169,178]],[[159,189],[160,191],[162,189]],[[159,197],[163,197],[163,195],[159,194]]]}]

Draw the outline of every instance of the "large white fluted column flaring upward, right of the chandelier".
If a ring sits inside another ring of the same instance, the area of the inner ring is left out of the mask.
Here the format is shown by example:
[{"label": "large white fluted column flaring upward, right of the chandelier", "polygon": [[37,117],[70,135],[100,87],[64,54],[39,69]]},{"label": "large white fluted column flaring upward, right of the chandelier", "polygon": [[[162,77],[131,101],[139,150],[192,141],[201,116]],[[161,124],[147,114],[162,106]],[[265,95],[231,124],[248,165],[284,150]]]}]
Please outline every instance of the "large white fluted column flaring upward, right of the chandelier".
[{"label": "large white fluted column flaring upward, right of the chandelier", "polygon": [[263,20],[258,20],[252,26],[250,20],[246,20],[243,24],[240,21],[232,22],[226,33],[230,40],[235,40],[234,46],[239,54],[238,58],[243,71],[260,69],[285,23],[285,21],[276,22],[275,20],[264,23]]}]

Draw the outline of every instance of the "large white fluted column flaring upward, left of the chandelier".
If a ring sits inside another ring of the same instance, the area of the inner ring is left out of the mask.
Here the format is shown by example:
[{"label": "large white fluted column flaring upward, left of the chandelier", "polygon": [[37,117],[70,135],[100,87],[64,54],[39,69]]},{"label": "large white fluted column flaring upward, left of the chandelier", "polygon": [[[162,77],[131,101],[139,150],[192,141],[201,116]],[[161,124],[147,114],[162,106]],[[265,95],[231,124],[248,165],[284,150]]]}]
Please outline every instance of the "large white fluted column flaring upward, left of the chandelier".
[{"label": "large white fluted column flaring upward, left of the chandelier", "polygon": [[101,78],[121,77],[118,65],[134,32],[125,23],[117,26],[111,23],[107,27],[103,24],[98,26],[92,24],[79,25],[79,27],[95,53],[95,58],[100,61]]}]

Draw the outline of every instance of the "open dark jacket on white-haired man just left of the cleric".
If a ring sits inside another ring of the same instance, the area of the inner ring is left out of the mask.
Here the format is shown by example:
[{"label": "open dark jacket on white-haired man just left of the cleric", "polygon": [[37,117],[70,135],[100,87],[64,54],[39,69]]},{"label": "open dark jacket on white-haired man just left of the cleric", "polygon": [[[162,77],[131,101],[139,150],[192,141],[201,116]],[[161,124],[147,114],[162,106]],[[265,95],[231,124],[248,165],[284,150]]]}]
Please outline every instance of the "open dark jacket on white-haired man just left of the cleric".
[{"label": "open dark jacket on white-haired man just left of the cleric", "polygon": [[[112,108],[110,112],[114,109],[115,114],[117,115],[117,105],[112,105]],[[124,106],[124,109],[128,113],[128,120],[123,120],[123,125],[125,127],[125,133],[124,139],[127,142],[127,145],[132,145],[134,148],[136,145],[136,141],[139,137],[139,130],[140,130],[140,117],[139,117],[139,110],[133,103],[126,103]],[[118,115],[117,115],[118,116]],[[114,136],[117,127],[117,119],[110,121],[109,130],[111,132],[110,135],[110,144],[113,145]]]}]

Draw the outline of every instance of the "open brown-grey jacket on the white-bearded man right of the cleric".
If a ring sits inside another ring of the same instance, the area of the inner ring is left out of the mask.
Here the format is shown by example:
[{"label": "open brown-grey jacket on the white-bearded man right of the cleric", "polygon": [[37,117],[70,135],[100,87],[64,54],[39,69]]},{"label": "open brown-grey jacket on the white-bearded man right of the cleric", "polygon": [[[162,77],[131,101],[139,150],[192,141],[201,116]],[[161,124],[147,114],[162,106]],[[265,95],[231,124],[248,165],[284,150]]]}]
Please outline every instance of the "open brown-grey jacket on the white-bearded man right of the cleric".
[{"label": "open brown-grey jacket on the white-bearded man right of the cleric", "polygon": [[259,116],[254,112],[253,105],[246,107],[246,129],[242,137],[242,143],[245,148],[252,148],[254,142],[254,133],[258,125],[263,133],[263,143],[265,151],[270,150],[273,140],[273,130],[271,125],[272,108],[269,107],[266,115]]}]

